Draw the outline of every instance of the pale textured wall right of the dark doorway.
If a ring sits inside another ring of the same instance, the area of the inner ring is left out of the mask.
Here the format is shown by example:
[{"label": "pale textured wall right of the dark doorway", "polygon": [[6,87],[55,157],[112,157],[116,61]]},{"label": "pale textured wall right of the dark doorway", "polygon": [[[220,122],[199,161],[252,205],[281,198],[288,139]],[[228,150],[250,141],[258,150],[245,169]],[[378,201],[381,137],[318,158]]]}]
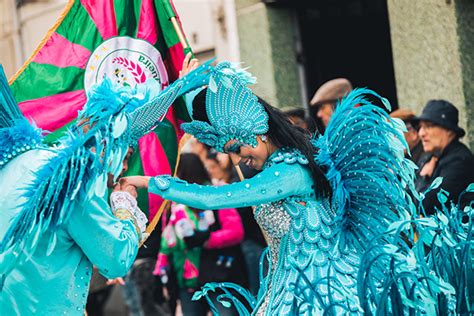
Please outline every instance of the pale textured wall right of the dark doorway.
[{"label": "pale textured wall right of the dark doorway", "polygon": [[400,107],[418,114],[430,99],[452,102],[474,148],[474,2],[388,0]]}]

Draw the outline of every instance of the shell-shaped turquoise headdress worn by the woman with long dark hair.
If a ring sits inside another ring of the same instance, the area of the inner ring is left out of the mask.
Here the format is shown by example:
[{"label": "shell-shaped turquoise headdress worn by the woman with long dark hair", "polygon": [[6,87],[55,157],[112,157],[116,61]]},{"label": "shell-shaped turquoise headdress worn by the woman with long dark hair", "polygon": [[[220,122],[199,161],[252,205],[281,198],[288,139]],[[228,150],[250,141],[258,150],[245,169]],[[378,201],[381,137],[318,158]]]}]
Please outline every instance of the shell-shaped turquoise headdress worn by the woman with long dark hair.
[{"label": "shell-shaped turquoise headdress worn by the woman with long dark hair", "polygon": [[182,124],[182,129],[221,152],[229,140],[257,146],[257,135],[268,131],[268,115],[247,87],[250,83],[255,78],[237,64],[218,64],[211,70],[206,92],[210,124],[194,120]]}]

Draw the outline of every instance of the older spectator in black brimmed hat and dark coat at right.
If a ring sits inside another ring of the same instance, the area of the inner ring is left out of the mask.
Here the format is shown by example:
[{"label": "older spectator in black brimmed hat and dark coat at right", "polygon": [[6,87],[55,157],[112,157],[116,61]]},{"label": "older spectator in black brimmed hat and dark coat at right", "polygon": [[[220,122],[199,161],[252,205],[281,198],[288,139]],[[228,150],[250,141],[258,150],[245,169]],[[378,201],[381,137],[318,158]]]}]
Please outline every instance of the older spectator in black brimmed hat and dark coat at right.
[{"label": "older spectator in black brimmed hat and dark coat at right", "polygon": [[[449,192],[449,199],[454,202],[474,182],[474,156],[459,141],[466,133],[458,126],[458,116],[458,110],[450,102],[431,100],[417,118],[423,149],[431,156],[421,167],[416,189],[424,192],[437,177],[443,177],[441,188]],[[426,195],[423,206],[427,214],[433,214],[435,208],[440,207],[437,198],[439,190]]]}]

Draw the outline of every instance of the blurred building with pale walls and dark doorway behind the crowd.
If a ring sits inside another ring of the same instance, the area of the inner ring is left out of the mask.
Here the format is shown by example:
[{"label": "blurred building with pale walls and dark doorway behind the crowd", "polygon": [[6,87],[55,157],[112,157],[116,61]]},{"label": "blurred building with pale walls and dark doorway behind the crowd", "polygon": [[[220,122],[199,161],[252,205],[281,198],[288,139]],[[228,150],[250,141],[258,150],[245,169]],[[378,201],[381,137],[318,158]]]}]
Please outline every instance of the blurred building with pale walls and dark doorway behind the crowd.
[{"label": "blurred building with pale walls and dark doorway behind the crowd", "polygon": [[[0,0],[0,62],[12,76],[66,0]],[[279,107],[306,107],[336,77],[419,113],[450,100],[474,148],[472,0],[174,0],[201,59],[243,61],[255,92]]]}]

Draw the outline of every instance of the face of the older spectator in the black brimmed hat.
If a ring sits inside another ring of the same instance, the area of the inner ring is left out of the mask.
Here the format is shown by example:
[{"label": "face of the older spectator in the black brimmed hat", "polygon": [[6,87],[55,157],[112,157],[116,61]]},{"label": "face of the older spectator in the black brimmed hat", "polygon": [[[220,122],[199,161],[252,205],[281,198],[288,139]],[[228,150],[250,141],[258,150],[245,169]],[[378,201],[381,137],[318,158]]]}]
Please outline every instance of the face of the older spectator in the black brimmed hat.
[{"label": "face of the older spectator in the black brimmed hat", "polygon": [[442,151],[456,137],[453,131],[427,121],[420,122],[418,135],[426,152]]}]

